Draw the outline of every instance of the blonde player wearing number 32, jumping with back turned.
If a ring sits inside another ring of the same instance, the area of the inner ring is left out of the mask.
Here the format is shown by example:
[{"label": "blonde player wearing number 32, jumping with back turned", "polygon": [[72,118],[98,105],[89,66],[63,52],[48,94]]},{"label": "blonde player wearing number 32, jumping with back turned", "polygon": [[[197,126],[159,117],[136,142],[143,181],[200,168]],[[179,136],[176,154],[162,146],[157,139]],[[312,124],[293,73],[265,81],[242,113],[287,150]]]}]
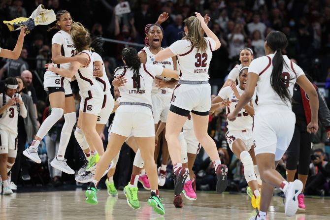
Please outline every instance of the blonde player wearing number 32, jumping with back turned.
[{"label": "blonde player wearing number 32, jumping with back turned", "polygon": [[[165,134],[176,176],[175,195],[181,193],[185,180],[189,176],[188,168],[182,167],[181,146],[178,136],[190,112],[192,112],[194,121],[195,135],[214,163],[218,178],[217,191],[223,192],[228,185],[228,168],[221,164],[215,142],[207,134],[208,116],[211,108],[209,98],[211,87],[208,83],[207,72],[212,51],[220,47],[220,41],[207,27],[204,18],[197,12],[195,14],[196,17],[192,16],[184,21],[186,36],[155,56],[156,61],[163,61],[178,55],[177,59],[180,64],[180,81],[173,92]],[[209,37],[203,37],[200,27]]]}]

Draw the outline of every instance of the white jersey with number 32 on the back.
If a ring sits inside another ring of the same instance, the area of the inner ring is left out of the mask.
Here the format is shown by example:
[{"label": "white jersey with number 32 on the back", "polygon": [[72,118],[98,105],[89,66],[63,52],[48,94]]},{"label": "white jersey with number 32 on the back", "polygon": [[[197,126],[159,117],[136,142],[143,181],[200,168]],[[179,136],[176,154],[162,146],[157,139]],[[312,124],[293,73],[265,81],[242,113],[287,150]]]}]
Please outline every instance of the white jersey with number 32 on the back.
[{"label": "white jersey with number 32 on the back", "polygon": [[212,59],[212,51],[215,49],[215,41],[210,37],[204,37],[207,48],[205,52],[198,51],[189,40],[178,40],[169,46],[180,64],[180,80],[207,81],[208,68]]}]

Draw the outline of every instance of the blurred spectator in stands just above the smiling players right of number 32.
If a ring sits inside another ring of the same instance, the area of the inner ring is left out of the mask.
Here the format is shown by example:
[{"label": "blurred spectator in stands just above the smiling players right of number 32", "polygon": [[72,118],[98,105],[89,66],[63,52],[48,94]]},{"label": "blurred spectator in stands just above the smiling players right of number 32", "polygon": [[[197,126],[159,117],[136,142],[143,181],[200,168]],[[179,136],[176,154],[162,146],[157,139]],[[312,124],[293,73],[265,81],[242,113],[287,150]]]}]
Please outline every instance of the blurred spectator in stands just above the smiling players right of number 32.
[{"label": "blurred spectator in stands just above the smiling players right of number 32", "polygon": [[244,35],[242,25],[236,24],[234,30],[228,34],[229,58],[237,60],[240,50],[244,47]]}]

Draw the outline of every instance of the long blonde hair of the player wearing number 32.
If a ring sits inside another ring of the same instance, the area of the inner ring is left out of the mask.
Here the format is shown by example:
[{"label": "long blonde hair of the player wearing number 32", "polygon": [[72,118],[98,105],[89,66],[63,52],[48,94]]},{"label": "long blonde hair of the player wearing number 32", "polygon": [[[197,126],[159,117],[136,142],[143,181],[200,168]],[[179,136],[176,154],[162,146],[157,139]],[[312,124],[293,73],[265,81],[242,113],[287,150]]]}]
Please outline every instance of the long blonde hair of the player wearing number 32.
[{"label": "long blonde hair of the player wearing number 32", "polygon": [[197,51],[205,52],[207,49],[207,42],[201,33],[201,24],[198,18],[191,16],[186,18],[183,22],[187,27],[188,33],[182,39],[189,40],[192,46],[197,48]]}]

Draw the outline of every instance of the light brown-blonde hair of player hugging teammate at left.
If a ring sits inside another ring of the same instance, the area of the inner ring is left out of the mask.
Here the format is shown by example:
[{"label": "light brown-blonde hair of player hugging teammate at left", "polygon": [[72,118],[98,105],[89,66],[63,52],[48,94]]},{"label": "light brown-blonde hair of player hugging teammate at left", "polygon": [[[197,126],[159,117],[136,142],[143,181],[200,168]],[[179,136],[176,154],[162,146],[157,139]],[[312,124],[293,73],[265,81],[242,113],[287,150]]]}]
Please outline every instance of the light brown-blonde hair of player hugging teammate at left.
[{"label": "light brown-blonde hair of player hugging teammate at left", "polygon": [[72,23],[71,36],[76,50],[81,52],[83,50],[93,49],[90,47],[92,37],[87,29],[79,22]]}]

